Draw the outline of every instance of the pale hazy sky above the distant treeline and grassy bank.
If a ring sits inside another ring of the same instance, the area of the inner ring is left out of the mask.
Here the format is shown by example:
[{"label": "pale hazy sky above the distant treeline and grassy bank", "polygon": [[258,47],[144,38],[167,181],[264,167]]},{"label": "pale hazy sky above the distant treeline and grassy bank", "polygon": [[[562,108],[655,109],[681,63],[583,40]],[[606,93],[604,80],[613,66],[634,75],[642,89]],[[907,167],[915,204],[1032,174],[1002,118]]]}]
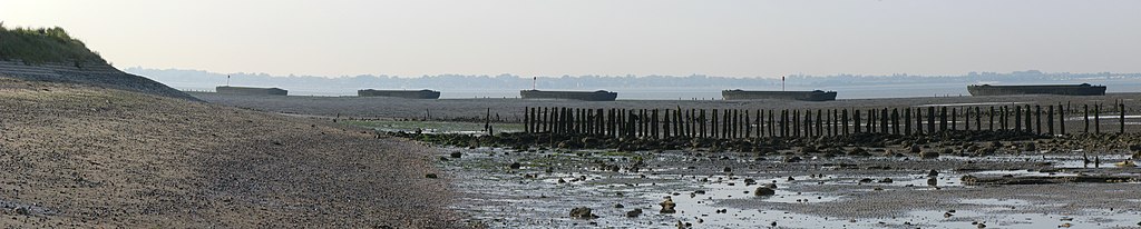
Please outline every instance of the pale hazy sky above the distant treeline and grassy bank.
[{"label": "pale hazy sky above the distant treeline and grassy bank", "polygon": [[0,21],[224,73],[1141,72],[1135,0],[0,0]]}]

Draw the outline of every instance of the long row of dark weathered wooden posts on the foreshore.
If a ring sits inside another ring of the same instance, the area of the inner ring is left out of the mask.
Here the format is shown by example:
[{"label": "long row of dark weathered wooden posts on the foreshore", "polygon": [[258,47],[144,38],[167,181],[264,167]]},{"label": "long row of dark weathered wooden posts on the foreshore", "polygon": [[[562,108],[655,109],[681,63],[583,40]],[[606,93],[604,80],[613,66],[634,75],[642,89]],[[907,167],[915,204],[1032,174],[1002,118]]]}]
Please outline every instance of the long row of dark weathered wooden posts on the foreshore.
[{"label": "long row of dark weathered wooden posts on the foreshore", "polygon": [[[1125,105],[1116,104],[1125,132]],[[820,137],[860,132],[928,134],[947,130],[1012,130],[1066,134],[1076,107],[905,107],[873,109],[621,109],[526,107],[525,131],[639,138]],[[1084,132],[1101,132],[1102,105],[1082,105]],[[1091,115],[1093,116],[1091,118]],[[1013,117],[1013,120],[1011,120]],[[1092,123],[1091,123],[1092,121]],[[1043,126],[1043,124],[1045,126]],[[1091,130],[1092,124],[1092,130]]]}]

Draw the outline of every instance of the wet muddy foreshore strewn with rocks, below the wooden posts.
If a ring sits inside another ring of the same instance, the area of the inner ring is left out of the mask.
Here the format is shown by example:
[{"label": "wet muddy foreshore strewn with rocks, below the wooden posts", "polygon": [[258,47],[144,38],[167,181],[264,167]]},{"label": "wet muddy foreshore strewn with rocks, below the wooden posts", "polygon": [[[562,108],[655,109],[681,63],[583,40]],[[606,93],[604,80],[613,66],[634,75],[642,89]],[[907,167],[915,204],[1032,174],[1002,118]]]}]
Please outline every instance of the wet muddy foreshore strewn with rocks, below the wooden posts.
[{"label": "wet muddy foreshore strewn with rocks, below the wooden posts", "polygon": [[[477,227],[1141,223],[1141,169],[1117,165],[1139,156],[1139,134],[952,131],[738,140],[390,134],[444,148],[438,165],[462,196],[453,208],[471,215]],[[670,204],[674,211],[663,211]]]}]

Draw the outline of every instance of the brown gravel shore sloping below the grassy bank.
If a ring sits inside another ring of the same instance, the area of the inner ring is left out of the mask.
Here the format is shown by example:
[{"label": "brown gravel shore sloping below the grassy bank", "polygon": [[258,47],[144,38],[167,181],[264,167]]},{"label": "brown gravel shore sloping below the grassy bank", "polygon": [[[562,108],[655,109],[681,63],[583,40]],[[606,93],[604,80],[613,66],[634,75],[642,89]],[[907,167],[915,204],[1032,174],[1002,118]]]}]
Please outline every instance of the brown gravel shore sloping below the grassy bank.
[{"label": "brown gravel shore sloping below the grassy bank", "polygon": [[199,101],[0,77],[0,224],[452,228],[437,149]]}]

